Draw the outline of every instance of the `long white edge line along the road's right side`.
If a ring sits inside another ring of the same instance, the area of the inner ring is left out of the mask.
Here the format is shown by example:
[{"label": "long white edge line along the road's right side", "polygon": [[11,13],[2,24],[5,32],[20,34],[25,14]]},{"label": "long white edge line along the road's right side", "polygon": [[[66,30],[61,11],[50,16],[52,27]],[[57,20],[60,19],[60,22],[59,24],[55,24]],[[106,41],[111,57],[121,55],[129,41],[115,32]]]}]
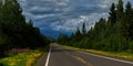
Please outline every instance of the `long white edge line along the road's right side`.
[{"label": "long white edge line along the road's right side", "polygon": [[102,58],[106,58],[106,59],[111,59],[111,61],[115,61],[115,62],[121,62],[121,63],[126,63],[126,64],[133,64],[133,62],[127,62],[127,61],[111,58],[111,57],[101,56],[101,55],[96,55],[96,54],[92,54],[92,53],[85,53],[85,52],[80,52],[80,53],[84,53],[84,54],[89,54],[91,56],[102,57]]}]

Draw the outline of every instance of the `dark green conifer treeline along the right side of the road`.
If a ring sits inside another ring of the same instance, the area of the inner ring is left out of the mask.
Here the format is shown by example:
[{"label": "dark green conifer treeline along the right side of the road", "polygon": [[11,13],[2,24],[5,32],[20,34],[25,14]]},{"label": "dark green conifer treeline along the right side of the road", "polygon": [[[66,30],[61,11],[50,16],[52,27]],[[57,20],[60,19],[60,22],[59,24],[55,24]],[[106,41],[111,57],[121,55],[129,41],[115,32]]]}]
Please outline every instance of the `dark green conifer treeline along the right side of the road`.
[{"label": "dark green conifer treeline along the right side of the road", "polygon": [[71,36],[61,34],[58,43],[80,48],[101,50],[109,52],[133,52],[133,8],[130,2],[112,3],[109,19],[101,18],[89,32],[85,23]]}]

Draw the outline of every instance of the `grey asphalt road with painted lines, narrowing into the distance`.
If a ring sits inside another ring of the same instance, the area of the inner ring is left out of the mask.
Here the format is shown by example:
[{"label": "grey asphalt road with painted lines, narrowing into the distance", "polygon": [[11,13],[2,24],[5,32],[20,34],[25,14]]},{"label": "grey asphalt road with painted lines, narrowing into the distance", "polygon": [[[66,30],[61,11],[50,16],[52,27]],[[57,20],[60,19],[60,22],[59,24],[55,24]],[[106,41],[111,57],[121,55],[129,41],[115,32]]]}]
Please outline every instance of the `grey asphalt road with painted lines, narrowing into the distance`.
[{"label": "grey asphalt road with painted lines, narrowing into the distance", "polygon": [[42,66],[133,66],[132,62],[78,52],[54,43],[51,44],[45,61],[42,59],[43,63],[40,64],[43,64]]}]

